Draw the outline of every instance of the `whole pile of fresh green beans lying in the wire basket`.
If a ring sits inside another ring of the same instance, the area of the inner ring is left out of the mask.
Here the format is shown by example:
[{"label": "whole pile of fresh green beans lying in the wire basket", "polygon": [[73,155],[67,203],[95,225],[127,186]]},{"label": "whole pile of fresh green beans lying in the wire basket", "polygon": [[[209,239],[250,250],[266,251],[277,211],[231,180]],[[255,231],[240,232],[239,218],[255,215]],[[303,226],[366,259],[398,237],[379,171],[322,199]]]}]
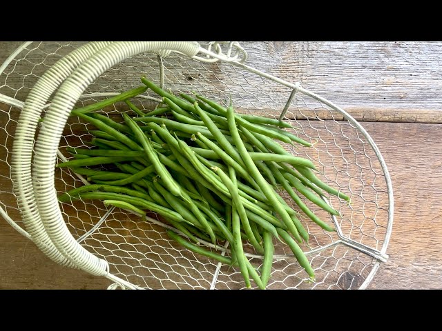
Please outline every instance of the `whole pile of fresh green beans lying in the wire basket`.
[{"label": "whole pile of fresh green beans lying in the wire basket", "polygon": [[[271,275],[274,242],[286,243],[311,279],[314,270],[299,244],[309,233],[299,220],[300,212],[280,197],[287,191],[311,221],[334,231],[301,197],[327,212],[339,215],[321,196],[325,192],[349,201],[343,192],[316,177],[309,159],[294,157],[278,141],[311,146],[284,130],[284,121],[238,114],[232,104],[225,108],[199,94],[180,97],[162,90],[145,77],[144,86],[73,110],[95,127],[93,148],[67,148],[73,155],[59,168],[86,176],[84,185],[59,196],[98,199],[106,205],[146,214],[151,210],[187,238],[168,231],[169,237],[209,259],[238,266],[247,288],[251,279],[264,289]],[[130,99],[150,89],[162,104],[150,112],[138,109]],[[125,101],[131,112],[117,122],[96,111]],[[129,116],[131,114],[132,116]],[[276,241],[275,241],[276,239]],[[230,257],[206,250],[200,241],[215,245],[228,241]],[[262,254],[256,270],[244,251]]]}]

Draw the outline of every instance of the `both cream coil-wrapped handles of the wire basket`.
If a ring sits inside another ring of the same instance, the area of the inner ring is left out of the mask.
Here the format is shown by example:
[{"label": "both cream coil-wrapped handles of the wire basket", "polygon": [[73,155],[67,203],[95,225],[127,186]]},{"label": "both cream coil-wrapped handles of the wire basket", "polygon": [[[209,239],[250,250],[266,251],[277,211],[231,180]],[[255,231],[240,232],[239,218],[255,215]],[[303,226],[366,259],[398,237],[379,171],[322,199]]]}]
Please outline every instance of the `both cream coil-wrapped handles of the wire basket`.
[{"label": "both cream coil-wrapped handles of the wire basket", "polygon": [[[17,182],[17,196],[20,205],[23,206],[21,209],[23,220],[26,218],[26,228],[28,231],[32,230],[30,231],[32,236],[39,238],[39,248],[48,256],[50,254],[52,259],[59,263],[64,262],[64,264],[69,264],[68,261],[70,261],[71,264],[91,274],[108,275],[108,263],[90,254],[70,234],[61,214],[55,190],[57,148],[70,111],[81,94],[104,71],[135,54],[175,50],[193,57],[199,47],[198,43],[172,41],[115,42],[107,43],[107,46],[94,43],[90,48],[85,46],[79,48],[75,54],[74,52],[68,54],[66,61],[59,64],[59,70],[54,71],[53,74],[45,74],[31,90],[17,125],[17,131],[21,132],[21,139],[15,142],[14,146],[17,151],[14,150],[13,153],[16,155],[13,161],[14,176],[12,178],[15,183]],[[78,63],[80,63],[79,66]],[[78,68],[73,70],[76,65]],[[30,184],[32,141],[41,107],[59,83],[61,86],[52,99],[44,126],[41,127],[35,143],[32,190]],[[30,112],[29,115],[28,112]],[[41,228],[41,223],[44,229]],[[43,234],[42,230],[46,230],[46,233]],[[64,259],[60,257],[60,253]]]}]

